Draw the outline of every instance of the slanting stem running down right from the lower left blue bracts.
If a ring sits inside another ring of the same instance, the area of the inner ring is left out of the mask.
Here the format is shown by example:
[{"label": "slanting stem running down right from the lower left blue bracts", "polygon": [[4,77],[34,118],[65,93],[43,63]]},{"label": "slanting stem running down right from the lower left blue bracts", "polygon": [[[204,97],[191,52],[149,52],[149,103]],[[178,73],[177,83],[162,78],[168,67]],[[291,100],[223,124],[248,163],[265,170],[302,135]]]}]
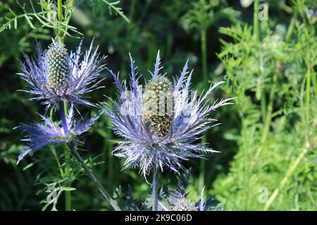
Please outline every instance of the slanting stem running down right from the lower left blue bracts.
[{"label": "slanting stem running down right from the lower left blue bracts", "polygon": [[96,185],[97,188],[99,189],[99,191],[102,193],[102,195],[104,195],[104,198],[106,198],[108,203],[110,203],[110,205],[113,207],[114,210],[121,211],[121,209],[120,209],[120,207],[118,207],[116,201],[113,200],[113,198],[111,198],[111,196],[108,194],[108,192],[104,189],[104,187],[97,180],[96,176],[94,176],[94,174],[92,174],[90,169],[85,164],[84,160],[82,160],[82,158],[80,157],[80,155],[77,152],[76,148],[73,145],[70,145],[70,144],[68,146],[69,146],[70,150],[72,151],[73,155],[75,155],[76,160],[78,162],[80,162],[80,165],[82,165],[82,168],[85,169],[85,172],[87,173],[89,178],[92,179],[92,182],[94,182],[94,185]]}]

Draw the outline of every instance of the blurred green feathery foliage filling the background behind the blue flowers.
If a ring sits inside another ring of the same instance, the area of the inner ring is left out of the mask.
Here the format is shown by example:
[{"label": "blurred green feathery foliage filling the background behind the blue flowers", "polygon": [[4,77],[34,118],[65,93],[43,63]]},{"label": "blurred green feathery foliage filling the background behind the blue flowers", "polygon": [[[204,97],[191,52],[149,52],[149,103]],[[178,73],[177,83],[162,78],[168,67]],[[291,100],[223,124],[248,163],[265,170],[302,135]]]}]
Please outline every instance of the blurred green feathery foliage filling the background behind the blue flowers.
[{"label": "blurred green feathery foliage filling the background behind the blue flowers", "polygon": [[[33,4],[39,9],[48,2]],[[62,148],[49,146],[15,165],[23,134],[13,127],[39,121],[37,113],[44,113],[42,105],[17,91],[27,88],[15,75],[19,60],[22,53],[35,53],[35,39],[48,46],[55,37],[35,15],[23,15],[32,11],[30,1],[18,3],[0,1],[0,210],[63,210],[63,195],[56,204],[47,203],[48,186],[58,187],[58,193],[71,191],[75,210],[109,210],[75,160],[68,162],[70,176],[61,176],[56,158],[63,158]],[[75,1],[65,43],[74,50],[83,36],[85,47],[94,38],[94,45],[108,55],[108,68],[120,70],[121,79],[129,75],[129,52],[137,71],[149,77],[147,70],[160,49],[170,79],[189,58],[192,89],[226,81],[211,101],[236,97],[235,105],[211,115],[222,124],[203,139],[221,153],[185,164],[192,168],[192,200],[205,186],[205,194],[225,210],[316,210],[316,1],[266,4],[268,20],[260,21],[254,20],[253,4],[243,8],[240,1],[120,1],[114,7],[120,6],[126,18],[103,0]],[[12,12],[23,16],[11,20]],[[106,88],[93,92],[94,103],[117,94],[111,75],[104,71],[104,77]],[[97,108],[80,110],[97,113]],[[102,117],[85,136],[80,153],[113,197],[120,186],[142,200],[150,186],[137,169],[121,171],[123,162],[111,153],[112,140],[119,137],[110,125]],[[175,185],[175,174],[164,172],[160,181],[163,187]]]}]

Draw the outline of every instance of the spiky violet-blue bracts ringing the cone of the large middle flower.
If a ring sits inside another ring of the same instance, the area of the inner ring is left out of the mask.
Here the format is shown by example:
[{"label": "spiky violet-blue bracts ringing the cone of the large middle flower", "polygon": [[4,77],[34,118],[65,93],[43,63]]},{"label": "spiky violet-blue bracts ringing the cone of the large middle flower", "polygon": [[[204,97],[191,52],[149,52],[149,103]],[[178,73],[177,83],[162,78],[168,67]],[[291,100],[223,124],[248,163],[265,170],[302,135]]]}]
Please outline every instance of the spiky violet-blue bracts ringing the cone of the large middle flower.
[{"label": "spiky violet-blue bracts ringing the cone of the large middle flower", "polygon": [[[181,162],[188,158],[199,158],[201,153],[213,153],[211,148],[201,146],[197,139],[201,133],[217,124],[212,124],[213,119],[209,114],[220,106],[229,104],[230,99],[216,101],[212,105],[207,104],[211,91],[223,82],[216,82],[209,89],[198,96],[193,95],[195,101],[189,101],[189,89],[192,71],[187,72],[188,60],[173,84],[173,118],[170,122],[170,130],[164,136],[158,135],[151,129],[151,122],[142,120],[142,89],[139,89],[139,76],[135,72],[135,63],[131,60],[131,82],[130,95],[125,93],[128,90],[126,82],[120,82],[118,75],[111,70],[115,83],[120,91],[120,101],[116,102],[110,98],[111,103],[104,103],[101,108],[108,115],[116,134],[123,136],[124,140],[119,141],[113,153],[125,158],[126,167],[138,166],[140,172],[149,173],[153,165],[158,165],[162,170],[167,167],[174,172],[182,169]],[[151,72],[151,80],[165,77],[160,70],[159,53],[154,64],[154,72]],[[194,141],[197,141],[196,143]]]}]

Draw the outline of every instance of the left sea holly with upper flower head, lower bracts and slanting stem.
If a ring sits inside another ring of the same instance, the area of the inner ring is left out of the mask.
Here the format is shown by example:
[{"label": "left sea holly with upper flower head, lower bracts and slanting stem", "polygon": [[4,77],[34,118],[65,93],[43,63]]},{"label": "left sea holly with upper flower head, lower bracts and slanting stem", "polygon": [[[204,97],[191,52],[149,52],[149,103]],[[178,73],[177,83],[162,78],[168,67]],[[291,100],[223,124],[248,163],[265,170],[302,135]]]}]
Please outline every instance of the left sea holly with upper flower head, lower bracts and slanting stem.
[{"label": "left sea holly with upper flower head, lower bracts and slanting stem", "polygon": [[[97,48],[98,49],[98,48]],[[89,101],[83,99],[83,94],[101,88],[97,82],[97,75],[105,68],[104,56],[99,56],[97,49],[92,51],[92,44],[82,58],[81,43],[75,53],[68,55],[65,46],[53,41],[47,51],[42,52],[39,44],[37,45],[37,59],[30,60],[25,56],[25,63],[22,63],[23,72],[18,74],[30,86],[30,91],[25,91],[34,94],[37,99],[43,101],[46,105],[46,110],[51,106],[54,109],[59,108],[61,116],[61,124],[54,123],[51,119],[42,117],[42,124],[35,123],[32,126],[23,125],[16,127],[27,133],[29,144],[18,157],[18,162],[25,155],[44,148],[47,144],[54,145],[67,144],[71,153],[80,163],[87,175],[99,191],[108,200],[108,203],[114,210],[120,210],[117,203],[111,195],[107,193],[104,187],[100,184],[97,178],[92,174],[89,167],[82,160],[80,154],[76,150],[76,144],[80,141],[77,136],[89,129],[89,127],[98,119],[99,115],[92,117],[86,122],[77,122],[73,118],[73,108],[75,104],[93,105]],[[64,103],[69,103],[70,111],[66,117]],[[65,151],[66,152],[66,151]],[[66,165],[66,171],[69,168]],[[65,172],[67,174],[67,172]],[[66,175],[68,176],[68,175]],[[66,193],[66,209],[71,208],[69,192]]]}]

